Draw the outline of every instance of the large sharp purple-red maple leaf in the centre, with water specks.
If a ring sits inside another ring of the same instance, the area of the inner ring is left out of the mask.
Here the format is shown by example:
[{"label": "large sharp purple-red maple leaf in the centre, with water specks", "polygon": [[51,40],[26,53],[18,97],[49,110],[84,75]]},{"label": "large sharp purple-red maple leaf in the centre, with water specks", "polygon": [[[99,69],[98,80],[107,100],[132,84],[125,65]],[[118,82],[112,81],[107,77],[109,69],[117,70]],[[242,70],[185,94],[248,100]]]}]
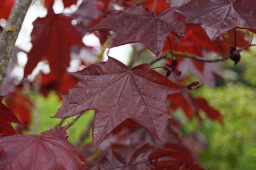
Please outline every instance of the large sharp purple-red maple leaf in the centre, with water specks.
[{"label": "large sharp purple-red maple leaf in the centre, with water specks", "polygon": [[120,61],[92,64],[72,75],[79,79],[69,91],[60,93],[63,104],[54,117],[63,118],[94,109],[94,145],[102,142],[127,118],[133,119],[159,140],[170,118],[166,95],[185,87],[141,64],[132,70]]}]

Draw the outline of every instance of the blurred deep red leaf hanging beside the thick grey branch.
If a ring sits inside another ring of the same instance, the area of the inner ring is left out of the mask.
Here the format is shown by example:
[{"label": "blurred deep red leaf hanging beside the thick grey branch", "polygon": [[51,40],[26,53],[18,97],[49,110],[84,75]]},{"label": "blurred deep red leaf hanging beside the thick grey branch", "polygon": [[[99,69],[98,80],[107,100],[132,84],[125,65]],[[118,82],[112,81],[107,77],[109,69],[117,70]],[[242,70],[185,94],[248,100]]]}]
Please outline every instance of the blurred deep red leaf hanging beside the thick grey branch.
[{"label": "blurred deep red leaf hanging beside the thick grey branch", "polygon": [[73,17],[54,14],[49,8],[44,18],[38,18],[33,23],[31,43],[33,47],[28,53],[28,63],[25,66],[24,77],[30,74],[39,61],[47,59],[50,70],[58,79],[70,66],[71,45],[84,45],[81,33],[71,24]]}]

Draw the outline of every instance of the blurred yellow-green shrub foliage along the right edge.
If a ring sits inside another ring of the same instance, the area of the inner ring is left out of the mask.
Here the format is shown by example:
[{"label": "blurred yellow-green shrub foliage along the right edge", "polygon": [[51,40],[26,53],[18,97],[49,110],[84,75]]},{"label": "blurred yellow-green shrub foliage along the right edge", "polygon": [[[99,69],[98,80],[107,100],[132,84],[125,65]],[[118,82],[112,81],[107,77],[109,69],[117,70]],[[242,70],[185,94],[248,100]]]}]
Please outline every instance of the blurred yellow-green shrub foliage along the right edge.
[{"label": "blurred yellow-green shrub foliage along the right edge", "polygon": [[[194,130],[204,134],[209,147],[201,153],[202,166],[207,169],[255,169],[256,163],[256,50],[244,53],[241,63],[226,72],[225,85],[214,90],[204,86],[196,91],[224,116],[223,126],[193,118],[185,123],[186,133]],[[223,84],[223,83],[220,83]]]}]

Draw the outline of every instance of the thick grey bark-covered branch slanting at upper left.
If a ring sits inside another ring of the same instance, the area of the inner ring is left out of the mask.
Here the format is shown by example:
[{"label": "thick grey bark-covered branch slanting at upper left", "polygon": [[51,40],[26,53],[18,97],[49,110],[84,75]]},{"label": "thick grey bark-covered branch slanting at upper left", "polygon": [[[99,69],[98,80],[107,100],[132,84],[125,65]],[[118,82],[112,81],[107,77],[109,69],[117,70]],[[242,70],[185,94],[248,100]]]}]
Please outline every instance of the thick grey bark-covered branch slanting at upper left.
[{"label": "thick grey bark-covered branch slanting at upper left", "polygon": [[0,88],[4,82],[12,50],[32,0],[16,0],[0,38]]}]

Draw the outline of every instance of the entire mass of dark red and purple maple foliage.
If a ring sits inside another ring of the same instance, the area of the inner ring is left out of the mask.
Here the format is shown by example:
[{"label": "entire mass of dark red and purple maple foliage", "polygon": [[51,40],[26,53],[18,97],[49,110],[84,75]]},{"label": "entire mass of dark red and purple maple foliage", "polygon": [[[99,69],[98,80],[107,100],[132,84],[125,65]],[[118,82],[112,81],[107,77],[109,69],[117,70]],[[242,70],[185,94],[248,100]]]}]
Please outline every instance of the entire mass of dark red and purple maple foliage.
[{"label": "entire mass of dark red and purple maple foliage", "polygon": [[[186,117],[196,115],[199,119],[199,112],[203,110],[207,117],[221,123],[223,117],[205,99],[194,98],[185,91],[195,83],[186,87],[173,82],[171,77],[191,71],[203,83],[214,87],[214,75],[222,77],[216,63],[206,64],[174,56],[175,64],[166,60],[171,76],[164,77],[153,71],[150,64],[129,69],[109,56],[106,62],[91,64],[82,71],[68,74],[71,53],[77,53],[72,47],[79,45],[91,50],[83,44],[82,37],[94,33],[101,44],[110,38],[108,48],[140,42],[156,56],[166,50],[202,58],[207,58],[209,52],[233,55],[238,47],[246,47],[248,42],[244,40],[246,33],[243,31],[236,31],[236,40],[231,31],[243,28],[256,32],[254,0],[86,0],[71,15],[55,14],[52,9],[54,2],[44,0],[47,15],[33,23],[33,47],[27,53],[24,77],[31,74],[40,61],[48,62],[49,74],[38,75],[29,85],[31,88],[39,85],[39,92],[45,96],[50,90],[61,92],[63,104],[54,117],[71,117],[94,109],[93,145],[100,154],[91,160],[95,155],[91,145],[80,152],[67,141],[66,127],[52,128],[39,136],[12,136],[17,132],[10,123],[27,128],[34,106],[18,91],[23,85],[7,90],[9,84],[5,83],[8,107],[2,104],[4,97],[1,96],[0,168],[202,169],[198,165],[196,149],[190,147],[198,137],[179,137],[177,132],[182,125],[174,119],[169,120],[172,117],[169,110],[181,107]],[[62,2],[64,7],[77,3],[76,0]],[[12,0],[0,2],[1,18],[7,19],[13,4]],[[120,10],[116,10],[116,6],[121,7]],[[238,43],[234,43],[236,41]],[[232,53],[230,47],[234,49]],[[88,56],[84,58],[88,59]],[[89,65],[87,63],[84,65]],[[14,62],[11,61],[10,65],[13,66]],[[90,160],[87,168],[84,158]]]}]

